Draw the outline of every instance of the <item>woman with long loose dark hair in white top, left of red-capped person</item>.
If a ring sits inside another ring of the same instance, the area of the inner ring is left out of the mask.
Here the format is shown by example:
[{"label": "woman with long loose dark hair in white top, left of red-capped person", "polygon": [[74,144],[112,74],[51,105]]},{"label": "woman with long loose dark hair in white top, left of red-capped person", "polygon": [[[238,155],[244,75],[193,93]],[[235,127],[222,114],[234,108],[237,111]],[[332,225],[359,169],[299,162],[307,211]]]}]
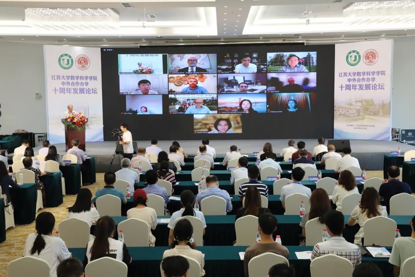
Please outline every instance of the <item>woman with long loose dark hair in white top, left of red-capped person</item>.
[{"label": "woman with long loose dark hair in white top, left of red-capped person", "polygon": [[76,196],[75,203],[68,208],[67,218],[79,218],[88,222],[89,227],[100,218],[97,209],[91,207],[92,193],[89,189],[81,189]]}]

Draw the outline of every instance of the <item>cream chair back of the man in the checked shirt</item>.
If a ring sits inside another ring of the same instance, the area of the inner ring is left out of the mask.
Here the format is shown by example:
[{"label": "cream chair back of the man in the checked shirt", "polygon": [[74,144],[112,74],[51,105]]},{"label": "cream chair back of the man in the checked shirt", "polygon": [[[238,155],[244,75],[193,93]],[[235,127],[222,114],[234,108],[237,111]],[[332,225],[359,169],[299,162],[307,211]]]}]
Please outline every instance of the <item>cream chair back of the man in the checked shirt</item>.
[{"label": "cream chair back of the man in the checked shirt", "polygon": [[351,277],[353,274],[353,264],[347,258],[327,254],[316,257],[311,261],[310,273],[311,277]]}]

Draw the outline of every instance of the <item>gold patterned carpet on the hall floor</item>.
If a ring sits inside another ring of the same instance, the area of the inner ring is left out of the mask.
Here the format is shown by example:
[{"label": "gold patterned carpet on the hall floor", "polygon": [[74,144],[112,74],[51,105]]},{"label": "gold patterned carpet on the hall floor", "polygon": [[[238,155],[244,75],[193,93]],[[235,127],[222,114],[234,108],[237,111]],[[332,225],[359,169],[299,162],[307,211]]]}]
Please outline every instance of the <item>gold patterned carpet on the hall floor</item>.
[{"label": "gold patterned carpet on the hall floor", "polygon": [[[383,171],[367,171],[367,178],[379,177],[383,178]],[[104,173],[97,173],[97,182],[93,185],[86,186],[95,195],[97,189],[104,186]],[[63,196],[63,203],[59,207],[44,208],[41,212],[51,212],[55,215],[55,228],[66,219],[67,208],[71,207],[75,202],[76,195]],[[7,265],[14,259],[22,256],[24,243],[28,234],[35,232],[35,221],[31,224],[18,225],[16,228],[10,228],[6,231],[6,241],[0,243],[0,277],[7,277]]]}]

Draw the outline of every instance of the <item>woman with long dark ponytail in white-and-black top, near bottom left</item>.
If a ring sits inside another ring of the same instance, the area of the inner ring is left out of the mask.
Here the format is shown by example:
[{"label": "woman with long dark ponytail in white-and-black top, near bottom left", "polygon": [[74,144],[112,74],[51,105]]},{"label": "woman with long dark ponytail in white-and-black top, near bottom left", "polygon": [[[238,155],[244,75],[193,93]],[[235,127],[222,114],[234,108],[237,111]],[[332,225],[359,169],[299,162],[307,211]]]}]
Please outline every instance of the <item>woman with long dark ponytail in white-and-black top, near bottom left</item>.
[{"label": "woman with long dark ponytail in white-and-black top, near bottom left", "polygon": [[112,217],[104,215],[97,220],[95,238],[91,239],[86,246],[84,263],[102,257],[111,257],[127,265],[131,263],[132,258],[124,242],[112,238],[115,231],[115,221]]}]

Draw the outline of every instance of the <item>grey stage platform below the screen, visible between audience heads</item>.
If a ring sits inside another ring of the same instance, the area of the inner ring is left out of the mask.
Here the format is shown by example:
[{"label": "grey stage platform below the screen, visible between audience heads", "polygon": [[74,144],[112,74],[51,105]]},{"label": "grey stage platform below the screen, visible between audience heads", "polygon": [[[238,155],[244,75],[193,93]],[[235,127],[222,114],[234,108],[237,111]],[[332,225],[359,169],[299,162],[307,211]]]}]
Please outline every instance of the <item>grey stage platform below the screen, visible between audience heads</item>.
[{"label": "grey stage platform below the screen, visible between audience heads", "polygon": [[[310,152],[317,145],[316,139],[294,139],[295,143],[298,141],[304,141],[306,143],[306,149]],[[326,139],[327,145],[328,139]],[[229,151],[231,145],[236,145],[243,154],[252,154],[252,152],[258,152],[264,145],[264,143],[270,142],[272,144],[273,151],[280,153],[281,149],[287,147],[288,140],[210,140],[210,146],[216,149],[217,155],[225,155]],[[172,141],[159,141],[159,147],[168,153],[168,148],[171,146]],[[180,145],[185,149],[187,155],[195,155],[201,141],[179,141]],[[139,147],[150,146],[149,141],[137,141]],[[366,170],[383,170],[383,155],[389,154],[391,151],[397,151],[398,147],[401,148],[402,153],[408,150],[415,150],[414,146],[398,143],[396,141],[370,141],[370,140],[350,140],[352,148],[352,156],[359,160],[362,169]],[[58,153],[64,153],[65,145],[57,144]],[[35,152],[40,149],[36,147]],[[112,154],[115,150],[115,142],[87,142],[86,153],[89,156],[95,156],[97,172],[105,172],[109,170],[109,164],[112,158]],[[120,157],[120,160],[122,157]],[[111,170],[120,169],[118,163],[118,156],[114,159]]]}]

